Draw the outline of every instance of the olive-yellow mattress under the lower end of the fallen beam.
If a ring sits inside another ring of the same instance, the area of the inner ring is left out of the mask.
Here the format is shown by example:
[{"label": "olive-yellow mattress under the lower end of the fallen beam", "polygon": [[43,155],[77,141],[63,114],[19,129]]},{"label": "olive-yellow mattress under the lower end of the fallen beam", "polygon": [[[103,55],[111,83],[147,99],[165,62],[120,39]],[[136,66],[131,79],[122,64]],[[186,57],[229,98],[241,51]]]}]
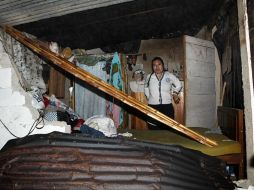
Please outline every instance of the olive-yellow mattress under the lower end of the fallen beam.
[{"label": "olive-yellow mattress under the lower end of the fallen beam", "polygon": [[180,134],[175,130],[137,130],[137,129],[118,129],[118,133],[129,132],[133,136],[132,140],[140,140],[150,143],[180,145],[193,150],[198,150],[210,156],[221,156],[226,154],[235,154],[241,152],[239,142],[226,137],[225,135],[215,133],[207,128],[192,127],[193,131],[200,133],[218,143],[218,146],[208,147],[197,141],[190,139],[184,134]]}]

